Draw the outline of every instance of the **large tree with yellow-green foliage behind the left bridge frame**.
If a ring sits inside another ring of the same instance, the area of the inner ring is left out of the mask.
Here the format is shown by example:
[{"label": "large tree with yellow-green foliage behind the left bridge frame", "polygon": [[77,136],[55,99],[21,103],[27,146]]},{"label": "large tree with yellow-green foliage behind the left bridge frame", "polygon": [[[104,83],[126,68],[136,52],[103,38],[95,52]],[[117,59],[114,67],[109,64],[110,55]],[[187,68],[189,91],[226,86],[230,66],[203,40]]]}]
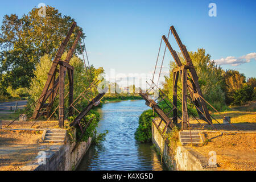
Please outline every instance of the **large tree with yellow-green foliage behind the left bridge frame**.
[{"label": "large tree with yellow-green foliage behind the left bridge frame", "polygon": [[[53,7],[46,7],[46,16],[38,15],[39,9],[32,9],[21,18],[16,14],[5,15],[0,32],[0,86],[30,86],[35,65],[40,62],[40,57],[45,54],[53,58],[60,43],[71,27],[70,16],[63,16]],[[67,49],[72,46],[77,32],[82,28],[77,27],[71,36]],[[84,35],[82,35],[84,37]],[[79,46],[77,46],[79,51]],[[1,90],[1,89],[0,89]]]}]

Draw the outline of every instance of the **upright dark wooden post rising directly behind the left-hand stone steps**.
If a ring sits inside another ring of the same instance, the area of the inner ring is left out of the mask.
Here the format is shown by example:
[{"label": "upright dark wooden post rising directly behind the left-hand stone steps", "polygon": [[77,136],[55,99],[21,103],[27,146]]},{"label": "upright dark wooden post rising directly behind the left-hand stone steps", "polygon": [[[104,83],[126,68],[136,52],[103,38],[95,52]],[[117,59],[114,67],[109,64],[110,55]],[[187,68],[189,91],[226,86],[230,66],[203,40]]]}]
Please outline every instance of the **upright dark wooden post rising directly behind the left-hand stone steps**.
[{"label": "upright dark wooden post rising directly behind the left-hand stone steps", "polygon": [[64,127],[64,104],[65,104],[65,77],[64,77],[65,68],[63,65],[60,65],[60,108],[59,108],[59,127]]}]

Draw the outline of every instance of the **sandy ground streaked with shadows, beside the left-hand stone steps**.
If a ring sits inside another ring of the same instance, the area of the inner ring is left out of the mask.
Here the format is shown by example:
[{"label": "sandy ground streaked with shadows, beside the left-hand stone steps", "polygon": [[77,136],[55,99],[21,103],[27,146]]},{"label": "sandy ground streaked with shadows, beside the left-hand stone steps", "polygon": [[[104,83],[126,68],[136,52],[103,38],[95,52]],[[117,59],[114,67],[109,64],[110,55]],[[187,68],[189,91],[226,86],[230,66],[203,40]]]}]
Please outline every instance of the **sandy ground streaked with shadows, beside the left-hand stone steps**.
[{"label": "sandy ground streaked with shadows, beside the left-hand stone steps", "polygon": [[46,150],[42,143],[43,131],[0,130],[0,171],[17,171],[39,151]]}]

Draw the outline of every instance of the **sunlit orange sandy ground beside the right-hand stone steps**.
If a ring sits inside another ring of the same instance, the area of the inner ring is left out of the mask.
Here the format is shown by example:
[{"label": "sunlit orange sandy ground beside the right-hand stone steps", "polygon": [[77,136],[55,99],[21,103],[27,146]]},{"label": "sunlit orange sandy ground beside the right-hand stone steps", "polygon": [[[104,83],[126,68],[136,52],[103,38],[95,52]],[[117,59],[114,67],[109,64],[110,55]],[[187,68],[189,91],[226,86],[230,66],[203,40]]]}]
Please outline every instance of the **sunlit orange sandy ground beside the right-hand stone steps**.
[{"label": "sunlit orange sandy ground beside the right-hand stone steps", "polygon": [[217,154],[219,170],[255,171],[256,170],[256,133],[205,133],[203,146],[193,147],[209,158],[209,152]]}]

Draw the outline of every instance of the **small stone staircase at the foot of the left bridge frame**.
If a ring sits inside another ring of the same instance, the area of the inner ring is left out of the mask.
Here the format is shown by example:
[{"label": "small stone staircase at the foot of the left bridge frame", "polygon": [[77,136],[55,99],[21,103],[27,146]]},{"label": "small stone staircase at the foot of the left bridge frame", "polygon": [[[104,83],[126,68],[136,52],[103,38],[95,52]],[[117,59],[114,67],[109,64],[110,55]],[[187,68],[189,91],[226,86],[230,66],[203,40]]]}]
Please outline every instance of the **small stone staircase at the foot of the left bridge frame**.
[{"label": "small stone staircase at the foot of the left bridge frame", "polygon": [[64,143],[65,136],[66,130],[46,130],[43,140],[47,143]]}]

